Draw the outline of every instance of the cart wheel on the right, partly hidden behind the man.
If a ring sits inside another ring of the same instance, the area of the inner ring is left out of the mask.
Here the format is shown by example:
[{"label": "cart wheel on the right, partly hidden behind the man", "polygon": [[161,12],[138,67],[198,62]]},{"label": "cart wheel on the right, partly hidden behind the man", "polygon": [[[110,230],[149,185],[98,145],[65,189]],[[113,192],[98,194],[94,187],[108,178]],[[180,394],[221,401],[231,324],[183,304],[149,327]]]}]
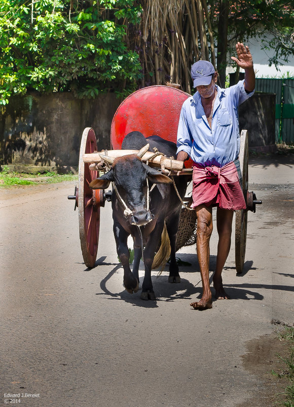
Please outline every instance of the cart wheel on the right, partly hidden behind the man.
[{"label": "cart wheel on the right, partly hidden behind the man", "polygon": [[[242,130],[240,135],[240,168],[242,173],[242,190],[248,190],[248,132]],[[246,237],[247,237],[247,214],[246,209],[236,210],[235,225],[235,261],[237,273],[242,273],[245,261]]]}]

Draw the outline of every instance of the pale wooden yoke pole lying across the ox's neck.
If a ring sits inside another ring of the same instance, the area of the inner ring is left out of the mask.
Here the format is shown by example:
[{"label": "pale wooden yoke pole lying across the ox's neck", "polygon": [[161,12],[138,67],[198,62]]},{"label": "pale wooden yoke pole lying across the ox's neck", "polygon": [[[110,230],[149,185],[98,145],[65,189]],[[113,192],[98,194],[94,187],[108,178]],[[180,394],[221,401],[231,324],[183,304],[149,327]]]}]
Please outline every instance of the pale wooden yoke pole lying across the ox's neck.
[{"label": "pale wooden yoke pole lying across the ox's neck", "polygon": [[[107,150],[107,151],[100,151],[100,152],[93,152],[90,154],[83,154],[83,161],[84,163],[101,163],[103,159],[101,158],[100,154],[107,155],[109,158],[117,158],[122,157],[124,155],[129,154],[138,154],[138,150]],[[172,158],[168,158],[159,152],[152,152],[146,151],[142,156],[142,161],[148,161],[148,165],[151,167],[159,167],[163,171],[182,171],[183,169],[183,162],[177,161]],[[96,166],[90,166],[90,169],[96,169]]]}]

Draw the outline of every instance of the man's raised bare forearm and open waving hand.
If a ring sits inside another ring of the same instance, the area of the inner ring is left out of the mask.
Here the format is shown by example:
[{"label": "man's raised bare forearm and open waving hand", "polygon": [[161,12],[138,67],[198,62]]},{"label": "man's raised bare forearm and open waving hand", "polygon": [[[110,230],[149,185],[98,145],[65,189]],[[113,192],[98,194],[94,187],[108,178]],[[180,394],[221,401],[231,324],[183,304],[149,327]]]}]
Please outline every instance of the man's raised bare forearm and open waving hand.
[{"label": "man's raised bare forearm and open waving hand", "polygon": [[255,88],[255,73],[253,69],[253,58],[247,45],[238,42],[236,44],[237,56],[231,56],[236,64],[245,70],[244,88],[247,92],[252,92]]}]

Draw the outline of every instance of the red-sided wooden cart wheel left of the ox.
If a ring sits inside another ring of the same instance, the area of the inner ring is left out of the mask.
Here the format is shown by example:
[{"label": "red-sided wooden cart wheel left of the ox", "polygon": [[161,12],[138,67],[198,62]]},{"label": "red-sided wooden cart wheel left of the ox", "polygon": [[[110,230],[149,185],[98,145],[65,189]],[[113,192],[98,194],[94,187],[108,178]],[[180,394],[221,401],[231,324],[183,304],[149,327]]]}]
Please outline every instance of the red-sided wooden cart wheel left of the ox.
[{"label": "red-sided wooden cart wheel left of the ox", "polygon": [[103,191],[93,191],[89,183],[99,176],[98,171],[90,171],[89,163],[84,163],[83,154],[97,151],[94,130],[87,127],[82,135],[79,158],[79,228],[82,254],[85,265],[94,267],[98,251],[100,206],[103,203]]}]

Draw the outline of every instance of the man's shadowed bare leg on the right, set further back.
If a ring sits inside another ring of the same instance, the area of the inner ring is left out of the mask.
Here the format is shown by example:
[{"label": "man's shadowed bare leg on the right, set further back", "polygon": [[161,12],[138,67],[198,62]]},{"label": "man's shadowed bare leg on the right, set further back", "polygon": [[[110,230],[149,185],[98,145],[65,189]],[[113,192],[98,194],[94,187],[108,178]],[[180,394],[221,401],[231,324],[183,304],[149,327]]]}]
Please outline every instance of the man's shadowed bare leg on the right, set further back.
[{"label": "man's shadowed bare leg on the right, set further back", "polygon": [[218,233],[217,257],[215,273],[213,275],[213,287],[216,299],[230,298],[223,287],[222,271],[228,258],[231,247],[232,222],[234,211],[217,208],[216,228]]}]

